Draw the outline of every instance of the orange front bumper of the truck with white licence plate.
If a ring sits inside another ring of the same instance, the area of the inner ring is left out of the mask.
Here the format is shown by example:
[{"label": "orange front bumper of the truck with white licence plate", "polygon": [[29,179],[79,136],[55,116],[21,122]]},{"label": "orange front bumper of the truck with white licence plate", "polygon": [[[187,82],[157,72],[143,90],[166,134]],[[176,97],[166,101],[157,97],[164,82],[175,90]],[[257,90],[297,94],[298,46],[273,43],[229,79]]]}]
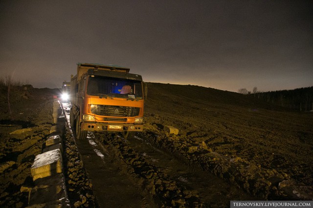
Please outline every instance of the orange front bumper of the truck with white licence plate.
[{"label": "orange front bumper of the truck with white licence plate", "polygon": [[90,132],[142,132],[143,124],[125,124],[125,123],[87,123],[82,122],[82,131]]}]

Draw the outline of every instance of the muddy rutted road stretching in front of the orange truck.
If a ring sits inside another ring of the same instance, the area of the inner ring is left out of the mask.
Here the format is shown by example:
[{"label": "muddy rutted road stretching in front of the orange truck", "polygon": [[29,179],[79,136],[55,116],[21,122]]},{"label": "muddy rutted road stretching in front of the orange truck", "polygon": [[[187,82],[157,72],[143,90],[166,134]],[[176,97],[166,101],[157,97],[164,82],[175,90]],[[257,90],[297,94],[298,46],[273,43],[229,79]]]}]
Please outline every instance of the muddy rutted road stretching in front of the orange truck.
[{"label": "muddy rutted road stretching in front of the orange truck", "polygon": [[[70,104],[63,106],[70,130]],[[75,143],[100,208],[218,208],[229,207],[231,200],[261,200],[158,149],[141,133],[126,140],[115,133],[89,132],[87,140]]]}]

